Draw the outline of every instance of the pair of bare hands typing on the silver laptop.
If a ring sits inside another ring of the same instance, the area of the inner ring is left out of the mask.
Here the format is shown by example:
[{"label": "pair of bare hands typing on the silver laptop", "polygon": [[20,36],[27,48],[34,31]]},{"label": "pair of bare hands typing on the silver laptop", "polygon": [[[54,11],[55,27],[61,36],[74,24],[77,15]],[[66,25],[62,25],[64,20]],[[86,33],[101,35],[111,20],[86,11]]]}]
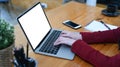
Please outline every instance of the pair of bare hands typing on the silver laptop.
[{"label": "pair of bare hands typing on the silver laptop", "polygon": [[54,45],[65,44],[72,46],[72,44],[78,39],[82,39],[79,32],[63,31],[55,41]]}]

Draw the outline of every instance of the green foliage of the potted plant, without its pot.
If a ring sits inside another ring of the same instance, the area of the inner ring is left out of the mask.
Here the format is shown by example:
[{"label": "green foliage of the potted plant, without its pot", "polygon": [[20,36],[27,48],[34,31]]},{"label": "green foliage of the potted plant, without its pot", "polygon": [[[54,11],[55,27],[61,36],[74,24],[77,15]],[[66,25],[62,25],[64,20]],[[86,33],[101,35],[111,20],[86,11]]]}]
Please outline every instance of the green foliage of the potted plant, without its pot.
[{"label": "green foliage of the potted plant, without its pot", "polygon": [[14,42],[14,27],[4,19],[0,19],[0,49],[4,49]]}]

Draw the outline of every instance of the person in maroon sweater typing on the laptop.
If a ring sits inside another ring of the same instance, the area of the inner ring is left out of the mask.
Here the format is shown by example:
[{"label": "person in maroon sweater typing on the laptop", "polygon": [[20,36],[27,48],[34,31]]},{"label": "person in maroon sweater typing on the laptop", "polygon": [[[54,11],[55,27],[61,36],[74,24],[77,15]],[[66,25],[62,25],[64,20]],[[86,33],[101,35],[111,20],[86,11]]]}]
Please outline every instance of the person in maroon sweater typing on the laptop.
[{"label": "person in maroon sweater typing on the laptop", "polygon": [[72,52],[95,67],[120,67],[120,54],[105,56],[88,44],[120,42],[120,27],[114,30],[98,32],[68,32],[63,31],[54,45],[66,44]]}]

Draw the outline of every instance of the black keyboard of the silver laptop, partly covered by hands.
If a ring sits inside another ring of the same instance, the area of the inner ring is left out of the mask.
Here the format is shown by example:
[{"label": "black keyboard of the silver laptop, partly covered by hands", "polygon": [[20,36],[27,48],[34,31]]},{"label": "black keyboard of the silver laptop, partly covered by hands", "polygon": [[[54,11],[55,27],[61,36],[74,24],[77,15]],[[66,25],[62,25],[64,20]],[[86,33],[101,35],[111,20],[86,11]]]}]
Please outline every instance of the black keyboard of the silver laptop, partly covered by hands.
[{"label": "black keyboard of the silver laptop, partly covered by hands", "polygon": [[49,38],[46,40],[46,42],[43,44],[43,46],[40,48],[40,51],[50,54],[57,54],[60,45],[54,46],[53,44],[56,41],[56,39],[59,37],[60,33],[61,31],[54,30],[49,36]]}]

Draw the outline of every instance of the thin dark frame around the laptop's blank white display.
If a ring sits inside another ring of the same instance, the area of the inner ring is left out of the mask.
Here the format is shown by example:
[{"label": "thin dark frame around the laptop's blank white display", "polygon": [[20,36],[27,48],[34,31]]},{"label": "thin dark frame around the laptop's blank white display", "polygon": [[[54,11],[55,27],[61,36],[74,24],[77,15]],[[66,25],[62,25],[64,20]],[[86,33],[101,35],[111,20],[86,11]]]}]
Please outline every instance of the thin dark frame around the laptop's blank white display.
[{"label": "thin dark frame around the laptop's blank white display", "polygon": [[37,47],[34,49],[33,46],[32,46],[32,44],[31,44],[31,42],[30,42],[30,40],[29,40],[29,38],[27,37],[27,34],[25,33],[25,31],[24,31],[21,23],[19,22],[19,19],[20,19],[23,15],[25,15],[27,12],[29,12],[30,10],[32,10],[34,7],[36,7],[37,5],[40,5],[40,6],[42,7],[41,2],[38,2],[38,3],[36,3],[34,6],[32,6],[31,8],[27,9],[26,11],[24,11],[20,16],[17,17],[17,21],[18,21],[18,23],[19,23],[19,25],[20,25],[20,27],[21,27],[21,29],[22,29],[22,31],[23,31],[23,33],[24,33],[24,35],[25,35],[25,37],[26,37],[26,39],[27,39],[27,41],[28,41],[28,43],[29,43],[30,46],[32,47],[32,50],[33,50],[33,51],[35,51],[36,48],[43,42],[43,40],[46,38],[46,36],[49,34],[49,32],[50,32],[51,29],[52,29],[52,27],[51,27],[51,25],[50,25],[50,22],[49,22],[49,20],[48,20],[48,18],[47,18],[47,15],[46,15],[44,9],[42,8],[43,13],[44,13],[44,15],[45,15],[45,17],[46,17],[46,20],[47,20],[48,23],[49,23],[50,30],[49,30],[48,33],[45,35],[45,37],[42,39],[42,41],[39,42],[39,44],[37,45]]}]

